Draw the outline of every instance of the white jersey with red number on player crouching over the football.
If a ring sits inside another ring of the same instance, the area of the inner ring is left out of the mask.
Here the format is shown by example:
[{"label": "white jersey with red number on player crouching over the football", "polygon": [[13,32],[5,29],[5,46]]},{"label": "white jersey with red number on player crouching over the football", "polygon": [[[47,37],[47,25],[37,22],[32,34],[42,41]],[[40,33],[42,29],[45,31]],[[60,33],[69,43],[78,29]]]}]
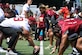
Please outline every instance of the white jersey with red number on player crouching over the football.
[{"label": "white jersey with red number on player crouching over the football", "polygon": [[30,25],[28,24],[28,20],[26,18],[10,18],[4,20],[0,26],[3,27],[12,27],[15,29],[20,30],[22,27],[24,27],[26,30],[30,30]]}]

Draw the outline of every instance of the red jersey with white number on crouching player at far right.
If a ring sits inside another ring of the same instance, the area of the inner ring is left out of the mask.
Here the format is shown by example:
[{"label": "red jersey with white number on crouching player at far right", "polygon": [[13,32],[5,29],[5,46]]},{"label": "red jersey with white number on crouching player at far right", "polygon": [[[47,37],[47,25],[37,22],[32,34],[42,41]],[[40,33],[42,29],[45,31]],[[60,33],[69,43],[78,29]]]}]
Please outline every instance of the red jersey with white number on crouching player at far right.
[{"label": "red jersey with white number on crouching player at far right", "polygon": [[60,20],[58,22],[58,25],[61,27],[62,34],[64,34],[67,30],[77,32],[81,24],[82,20],[76,18]]}]

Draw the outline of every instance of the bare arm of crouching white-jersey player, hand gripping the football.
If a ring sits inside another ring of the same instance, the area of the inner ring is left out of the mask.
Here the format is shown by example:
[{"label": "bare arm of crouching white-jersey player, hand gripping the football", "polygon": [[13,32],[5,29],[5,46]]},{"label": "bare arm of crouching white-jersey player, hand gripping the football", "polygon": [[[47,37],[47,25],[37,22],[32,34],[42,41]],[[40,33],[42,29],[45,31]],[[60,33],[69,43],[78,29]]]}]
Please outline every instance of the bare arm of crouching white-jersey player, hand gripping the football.
[{"label": "bare arm of crouching white-jersey player, hand gripping the football", "polygon": [[23,29],[22,33],[26,37],[26,40],[28,40],[30,45],[33,46],[33,48],[34,48],[33,55],[37,55],[39,53],[39,51],[40,51],[40,47],[34,44],[33,39],[32,39],[32,37],[30,35],[30,32],[28,30],[26,30],[24,27],[22,27],[22,29]]}]

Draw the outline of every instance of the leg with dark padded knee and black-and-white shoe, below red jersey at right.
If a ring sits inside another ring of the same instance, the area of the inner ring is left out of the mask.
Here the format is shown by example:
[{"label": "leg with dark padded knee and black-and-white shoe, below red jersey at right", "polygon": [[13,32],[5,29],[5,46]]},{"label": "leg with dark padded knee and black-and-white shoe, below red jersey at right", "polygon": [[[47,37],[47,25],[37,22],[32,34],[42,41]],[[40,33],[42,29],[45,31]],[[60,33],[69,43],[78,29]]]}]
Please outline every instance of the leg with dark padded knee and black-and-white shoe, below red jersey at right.
[{"label": "leg with dark padded knee and black-and-white shoe, below red jersey at right", "polygon": [[76,42],[78,39],[78,34],[77,33],[72,33],[71,35],[69,35],[68,40],[70,41],[70,44],[72,46],[72,53],[70,53],[69,55],[76,55],[78,53],[78,50],[76,49]]}]

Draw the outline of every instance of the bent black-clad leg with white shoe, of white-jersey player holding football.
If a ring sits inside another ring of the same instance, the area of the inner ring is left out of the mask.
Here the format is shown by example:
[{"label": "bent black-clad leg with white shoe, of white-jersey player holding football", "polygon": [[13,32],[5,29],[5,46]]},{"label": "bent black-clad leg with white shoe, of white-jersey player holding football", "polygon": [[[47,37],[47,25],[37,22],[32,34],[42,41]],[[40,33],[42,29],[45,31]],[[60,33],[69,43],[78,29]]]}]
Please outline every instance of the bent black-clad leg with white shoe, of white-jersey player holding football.
[{"label": "bent black-clad leg with white shoe, of white-jersey player holding football", "polygon": [[13,44],[15,43],[15,40],[16,40],[17,37],[18,37],[17,31],[16,31],[14,28],[10,28],[10,27],[7,27],[7,28],[6,28],[6,27],[3,27],[2,32],[3,32],[6,36],[11,36],[10,41],[9,41],[9,43],[8,43],[8,48],[7,48],[8,52],[9,52],[10,54],[16,54],[16,53],[14,53],[14,52],[12,51],[12,47],[13,47]]}]

